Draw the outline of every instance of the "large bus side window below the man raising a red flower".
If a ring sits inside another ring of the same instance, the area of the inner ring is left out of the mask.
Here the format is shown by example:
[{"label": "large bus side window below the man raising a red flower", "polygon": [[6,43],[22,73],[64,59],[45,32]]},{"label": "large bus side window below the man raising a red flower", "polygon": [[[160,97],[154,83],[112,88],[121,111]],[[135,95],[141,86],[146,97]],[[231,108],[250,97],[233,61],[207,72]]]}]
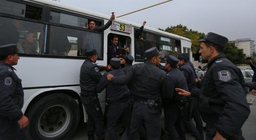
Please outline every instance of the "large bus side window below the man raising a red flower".
[{"label": "large bus side window below the man raising a red flower", "polygon": [[102,56],[102,35],[60,26],[50,27],[49,54],[84,57],[88,49],[96,49],[98,58]]}]

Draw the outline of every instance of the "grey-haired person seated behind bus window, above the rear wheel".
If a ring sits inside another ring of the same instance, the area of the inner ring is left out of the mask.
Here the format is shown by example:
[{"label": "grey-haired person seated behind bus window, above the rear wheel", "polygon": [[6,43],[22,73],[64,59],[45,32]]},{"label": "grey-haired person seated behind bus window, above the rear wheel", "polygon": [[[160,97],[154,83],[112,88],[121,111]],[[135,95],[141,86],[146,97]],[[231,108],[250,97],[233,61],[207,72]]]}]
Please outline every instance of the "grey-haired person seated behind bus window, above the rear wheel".
[{"label": "grey-haired person seated behind bus window, above the rear wheel", "polygon": [[37,54],[36,34],[34,32],[25,33],[25,41],[22,43],[24,53]]}]

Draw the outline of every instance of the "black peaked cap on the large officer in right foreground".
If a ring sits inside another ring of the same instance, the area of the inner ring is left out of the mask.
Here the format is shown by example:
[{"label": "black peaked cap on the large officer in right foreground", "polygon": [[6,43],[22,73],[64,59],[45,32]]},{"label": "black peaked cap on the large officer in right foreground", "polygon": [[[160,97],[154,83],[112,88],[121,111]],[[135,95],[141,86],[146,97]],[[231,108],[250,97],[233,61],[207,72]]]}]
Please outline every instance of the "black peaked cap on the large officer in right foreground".
[{"label": "black peaked cap on the large officer in right foreground", "polygon": [[200,42],[209,41],[211,43],[217,44],[219,46],[225,47],[228,39],[224,36],[218,35],[216,33],[209,32],[204,39],[200,39]]}]

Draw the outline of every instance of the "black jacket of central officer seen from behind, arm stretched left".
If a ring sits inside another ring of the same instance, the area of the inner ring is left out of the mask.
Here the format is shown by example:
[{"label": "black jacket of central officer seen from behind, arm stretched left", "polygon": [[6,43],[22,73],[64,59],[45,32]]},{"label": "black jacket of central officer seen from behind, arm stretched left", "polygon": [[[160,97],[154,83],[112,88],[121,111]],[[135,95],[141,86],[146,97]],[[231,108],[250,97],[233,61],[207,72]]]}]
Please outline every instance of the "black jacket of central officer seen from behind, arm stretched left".
[{"label": "black jacket of central officer seen from behind, arm stretched left", "polygon": [[166,73],[152,62],[133,65],[126,75],[113,77],[112,82],[119,84],[130,82],[135,99],[158,99],[161,96],[172,98],[173,96],[173,93],[170,93]]}]

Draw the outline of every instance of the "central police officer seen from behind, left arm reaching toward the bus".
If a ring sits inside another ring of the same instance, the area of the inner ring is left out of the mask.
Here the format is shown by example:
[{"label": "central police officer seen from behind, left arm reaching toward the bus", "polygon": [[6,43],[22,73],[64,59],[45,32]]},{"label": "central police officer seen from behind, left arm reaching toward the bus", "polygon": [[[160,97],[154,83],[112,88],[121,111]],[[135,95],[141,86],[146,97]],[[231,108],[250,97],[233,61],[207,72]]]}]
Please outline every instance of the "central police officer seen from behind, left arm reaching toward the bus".
[{"label": "central police officer seen from behind, left arm reaching toward the bus", "polygon": [[131,139],[135,138],[136,131],[144,124],[147,139],[160,139],[161,134],[161,97],[173,96],[170,93],[169,81],[164,71],[156,66],[161,61],[161,52],[156,47],[145,51],[147,61],[144,64],[133,65],[124,76],[114,77],[108,74],[108,79],[114,83],[132,83],[131,92],[134,95],[133,111],[131,116]]}]

